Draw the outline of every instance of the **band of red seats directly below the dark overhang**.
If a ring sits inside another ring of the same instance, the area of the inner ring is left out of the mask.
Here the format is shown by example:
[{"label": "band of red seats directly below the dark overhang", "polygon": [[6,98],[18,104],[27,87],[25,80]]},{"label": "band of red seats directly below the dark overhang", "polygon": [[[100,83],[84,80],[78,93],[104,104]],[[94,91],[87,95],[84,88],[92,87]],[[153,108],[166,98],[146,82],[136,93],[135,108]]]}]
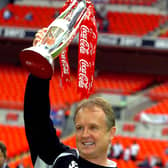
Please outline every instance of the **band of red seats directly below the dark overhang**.
[{"label": "band of red seats directly below the dark overhang", "polygon": [[[0,66],[0,75],[5,81],[0,82],[1,93],[3,93],[0,97],[1,107],[23,109],[24,87],[28,72],[16,66]],[[146,88],[152,84],[153,80],[154,77],[151,75],[101,73],[95,78],[94,93],[104,91],[129,95]],[[63,88],[60,82],[60,73],[57,72],[51,82],[50,96],[53,106],[61,107],[66,102],[72,104],[80,100],[80,95],[76,90],[77,76],[75,74],[71,75],[70,87]],[[15,84],[11,86],[11,83]]]}]

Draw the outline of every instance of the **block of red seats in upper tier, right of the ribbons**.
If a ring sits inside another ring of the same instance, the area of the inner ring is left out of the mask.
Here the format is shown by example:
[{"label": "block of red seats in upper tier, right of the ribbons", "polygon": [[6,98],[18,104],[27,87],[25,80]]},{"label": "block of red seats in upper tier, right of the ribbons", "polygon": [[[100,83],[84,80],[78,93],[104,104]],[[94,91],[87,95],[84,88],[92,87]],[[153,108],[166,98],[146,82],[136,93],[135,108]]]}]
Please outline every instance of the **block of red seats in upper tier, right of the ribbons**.
[{"label": "block of red seats in upper tier, right of the ribbons", "polygon": [[110,33],[143,36],[159,27],[162,15],[108,12],[108,18]]}]

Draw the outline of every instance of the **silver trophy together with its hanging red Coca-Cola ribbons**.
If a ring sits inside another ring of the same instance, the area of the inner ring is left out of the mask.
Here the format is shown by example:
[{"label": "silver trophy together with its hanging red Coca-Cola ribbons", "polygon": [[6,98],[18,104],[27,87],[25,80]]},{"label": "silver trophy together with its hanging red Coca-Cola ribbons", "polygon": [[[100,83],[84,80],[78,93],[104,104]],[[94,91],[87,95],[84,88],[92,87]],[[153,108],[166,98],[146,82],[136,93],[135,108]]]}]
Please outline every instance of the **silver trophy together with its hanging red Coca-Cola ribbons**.
[{"label": "silver trophy together with its hanging red Coca-Cola ribbons", "polygon": [[20,60],[33,75],[49,79],[54,73],[54,59],[59,57],[62,83],[67,85],[70,83],[68,45],[78,32],[77,89],[82,97],[88,97],[93,91],[98,38],[95,10],[90,0],[68,0],[44,37],[35,46],[20,52]]}]

